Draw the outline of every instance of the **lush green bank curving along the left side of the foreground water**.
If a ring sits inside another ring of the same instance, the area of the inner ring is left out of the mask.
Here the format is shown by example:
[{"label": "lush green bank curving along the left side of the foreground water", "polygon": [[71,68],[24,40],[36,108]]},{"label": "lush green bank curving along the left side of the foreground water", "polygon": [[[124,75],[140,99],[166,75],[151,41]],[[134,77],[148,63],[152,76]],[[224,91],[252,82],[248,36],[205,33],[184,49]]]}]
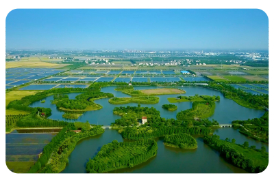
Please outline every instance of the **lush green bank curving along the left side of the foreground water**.
[{"label": "lush green bank curving along the left side of the foreground water", "polygon": [[82,129],[82,132],[71,132],[70,128],[64,127],[42,151],[38,161],[30,168],[30,173],[56,173],[64,170],[68,157],[75,145],[82,138],[103,133],[101,127]]}]

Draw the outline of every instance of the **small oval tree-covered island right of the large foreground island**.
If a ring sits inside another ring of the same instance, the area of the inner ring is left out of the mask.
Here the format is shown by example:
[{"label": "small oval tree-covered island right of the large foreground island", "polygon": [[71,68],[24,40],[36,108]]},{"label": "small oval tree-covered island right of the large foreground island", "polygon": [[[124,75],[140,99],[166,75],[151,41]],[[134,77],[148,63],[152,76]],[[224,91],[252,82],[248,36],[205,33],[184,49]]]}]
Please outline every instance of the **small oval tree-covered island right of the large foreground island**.
[{"label": "small oval tree-covered island right of the large foreground island", "polygon": [[180,149],[196,149],[197,141],[189,134],[171,134],[164,136],[164,145]]}]

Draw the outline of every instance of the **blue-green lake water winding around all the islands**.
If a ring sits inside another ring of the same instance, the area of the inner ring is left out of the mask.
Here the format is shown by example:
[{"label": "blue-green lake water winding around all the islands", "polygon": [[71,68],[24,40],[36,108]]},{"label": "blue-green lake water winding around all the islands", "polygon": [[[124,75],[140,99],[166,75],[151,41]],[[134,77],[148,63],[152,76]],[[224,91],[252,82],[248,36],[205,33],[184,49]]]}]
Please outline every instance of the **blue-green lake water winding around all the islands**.
[{"label": "blue-green lake water winding around all the islands", "polygon": [[[130,97],[121,91],[114,91],[115,87],[104,87],[101,89],[103,92],[113,93],[116,97]],[[153,89],[156,87],[134,87],[135,89]],[[219,123],[232,123],[234,120],[245,120],[253,119],[255,117],[261,117],[264,114],[264,110],[256,110],[251,108],[242,107],[233,100],[226,99],[218,91],[213,91],[211,89],[205,89],[200,87],[179,87],[186,91],[182,95],[219,95],[221,97],[220,102],[216,102],[216,108],[214,115],[210,119],[216,119]],[[79,93],[69,93],[70,99],[75,98]],[[167,118],[176,118],[177,112],[180,110],[186,110],[191,108],[192,102],[181,102],[175,103],[178,109],[176,111],[170,112],[162,108],[162,104],[169,104],[168,97],[176,97],[177,95],[159,95],[160,102],[158,104],[141,104],[141,106],[154,107],[157,110],[160,110],[161,117]],[[66,120],[62,118],[63,111],[58,110],[54,104],[51,104],[53,96],[49,96],[43,100],[46,100],[45,103],[34,102],[30,106],[37,107],[47,107],[51,108],[52,115],[50,119],[59,119]],[[101,110],[93,110],[84,112],[84,114],[77,119],[77,121],[86,122],[99,125],[110,125],[114,122],[115,119],[120,117],[112,114],[112,110],[116,106],[137,106],[138,104],[121,104],[113,105],[108,103],[109,98],[104,98],[101,100],[96,100],[97,104],[103,106]],[[67,120],[71,121],[71,120]],[[73,121],[71,121],[73,122]],[[219,128],[214,130],[214,134],[220,136],[221,139],[225,138],[234,138],[236,143],[242,144],[245,141],[249,142],[249,146],[255,145],[257,149],[260,149],[262,146],[266,147],[266,150],[269,151],[267,144],[248,138],[235,130],[234,128]],[[232,166],[219,157],[219,153],[214,151],[208,145],[203,144],[203,139],[196,136],[198,142],[198,148],[194,150],[188,149],[175,149],[172,147],[166,147],[163,144],[163,138],[157,138],[158,142],[158,153],[155,157],[152,157],[145,163],[134,166],[134,168],[127,168],[121,170],[114,170],[112,172],[140,172],[140,173],[233,173],[233,172],[245,172],[240,168]],[[105,132],[99,136],[92,136],[90,138],[85,138],[77,143],[75,150],[69,156],[69,164],[62,172],[68,173],[83,173],[86,172],[86,163],[88,159],[95,157],[97,152],[101,147],[112,140],[118,140],[119,142],[123,141],[123,138],[116,130],[105,130]],[[124,140],[127,141],[127,140]]]}]

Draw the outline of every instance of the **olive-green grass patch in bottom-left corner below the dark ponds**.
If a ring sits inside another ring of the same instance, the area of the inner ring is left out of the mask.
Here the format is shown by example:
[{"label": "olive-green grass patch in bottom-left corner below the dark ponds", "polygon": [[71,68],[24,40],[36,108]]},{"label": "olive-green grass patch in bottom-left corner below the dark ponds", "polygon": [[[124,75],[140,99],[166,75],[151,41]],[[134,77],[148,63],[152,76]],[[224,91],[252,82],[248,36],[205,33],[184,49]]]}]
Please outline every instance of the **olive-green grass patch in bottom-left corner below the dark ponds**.
[{"label": "olive-green grass patch in bottom-left corner below the dark ponds", "polygon": [[35,162],[5,162],[10,171],[15,173],[26,173]]}]

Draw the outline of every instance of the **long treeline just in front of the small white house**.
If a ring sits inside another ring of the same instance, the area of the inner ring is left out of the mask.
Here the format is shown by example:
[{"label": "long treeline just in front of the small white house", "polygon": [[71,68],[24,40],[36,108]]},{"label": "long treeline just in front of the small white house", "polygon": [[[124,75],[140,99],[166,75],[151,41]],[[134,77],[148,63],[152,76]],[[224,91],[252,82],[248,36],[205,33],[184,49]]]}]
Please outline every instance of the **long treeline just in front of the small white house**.
[{"label": "long treeline just in front of the small white house", "polygon": [[212,129],[208,127],[183,127],[183,126],[161,126],[161,127],[125,127],[119,130],[123,138],[130,140],[142,140],[157,138],[169,134],[212,134]]}]

